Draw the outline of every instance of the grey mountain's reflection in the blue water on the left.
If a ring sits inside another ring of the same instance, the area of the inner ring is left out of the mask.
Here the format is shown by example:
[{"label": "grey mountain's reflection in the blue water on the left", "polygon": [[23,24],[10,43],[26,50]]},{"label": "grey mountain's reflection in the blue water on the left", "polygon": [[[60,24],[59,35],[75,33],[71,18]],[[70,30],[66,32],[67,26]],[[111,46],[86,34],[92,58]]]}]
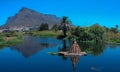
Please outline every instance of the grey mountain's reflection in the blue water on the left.
[{"label": "grey mountain's reflection in the blue water on the left", "polygon": [[57,45],[55,43],[56,39],[50,38],[37,38],[31,36],[24,36],[24,42],[11,47],[12,50],[17,50],[18,52],[22,53],[24,57],[30,57],[39,51],[43,50],[44,48],[53,48]]}]

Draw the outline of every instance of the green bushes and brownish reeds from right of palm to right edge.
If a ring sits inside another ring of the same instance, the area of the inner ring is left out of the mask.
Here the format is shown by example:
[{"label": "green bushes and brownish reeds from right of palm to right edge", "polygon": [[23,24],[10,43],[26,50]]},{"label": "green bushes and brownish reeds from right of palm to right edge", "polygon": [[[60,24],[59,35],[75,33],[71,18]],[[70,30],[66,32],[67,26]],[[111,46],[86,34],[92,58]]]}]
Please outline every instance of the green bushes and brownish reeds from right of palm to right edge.
[{"label": "green bushes and brownish reeds from right of palm to right edge", "polygon": [[94,24],[90,27],[74,27],[71,29],[71,37],[78,41],[85,42],[106,42],[106,43],[120,43],[120,33],[118,25],[112,28]]}]

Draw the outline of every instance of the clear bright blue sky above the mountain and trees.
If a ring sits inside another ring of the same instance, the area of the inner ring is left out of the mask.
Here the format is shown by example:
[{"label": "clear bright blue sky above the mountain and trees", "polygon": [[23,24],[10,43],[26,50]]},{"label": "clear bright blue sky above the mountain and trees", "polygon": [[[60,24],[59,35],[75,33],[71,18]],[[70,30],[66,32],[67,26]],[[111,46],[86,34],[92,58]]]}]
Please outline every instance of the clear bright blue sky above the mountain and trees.
[{"label": "clear bright blue sky above the mountain and trees", "polygon": [[0,25],[22,7],[58,17],[68,16],[74,25],[120,25],[120,0],[0,0]]}]

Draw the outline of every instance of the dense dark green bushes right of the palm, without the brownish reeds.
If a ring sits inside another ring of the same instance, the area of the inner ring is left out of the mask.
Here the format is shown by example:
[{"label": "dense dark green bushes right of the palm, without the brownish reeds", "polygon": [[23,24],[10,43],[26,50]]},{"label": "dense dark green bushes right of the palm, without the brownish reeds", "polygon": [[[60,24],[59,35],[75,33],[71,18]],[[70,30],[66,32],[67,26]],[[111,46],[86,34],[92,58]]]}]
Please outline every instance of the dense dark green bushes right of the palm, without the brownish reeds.
[{"label": "dense dark green bushes right of the palm, without the brownish reeds", "polygon": [[94,24],[90,27],[74,27],[71,30],[72,37],[79,41],[104,41],[105,29],[99,24]]}]

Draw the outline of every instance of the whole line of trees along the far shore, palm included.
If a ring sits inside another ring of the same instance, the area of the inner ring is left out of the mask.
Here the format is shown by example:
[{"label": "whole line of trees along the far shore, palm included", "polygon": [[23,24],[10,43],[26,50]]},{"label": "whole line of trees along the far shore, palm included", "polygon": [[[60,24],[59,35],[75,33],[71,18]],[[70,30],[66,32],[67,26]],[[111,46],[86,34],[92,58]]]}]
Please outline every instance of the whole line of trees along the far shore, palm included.
[{"label": "whole line of trees along the far shore, palm included", "polygon": [[[66,18],[66,19],[65,19]],[[65,20],[64,20],[65,19]],[[63,21],[61,25],[67,22],[67,17],[63,17]],[[38,29],[38,31],[44,30],[52,30],[57,32],[59,24],[54,24],[52,27],[49,27],[49,24],[42,23]],[[61,30],[65,29],[65,26],[61,26]],[[50,28],[50,29],[49,29]],[[71,39],[77,39],[78,41],[82,42],[106,42],[106,43],[120,43],[120,32],[118,30],[119,26],[116,25],[112,28],[108,28],[106,26],[101,26],[100,24],[96,23],[90,27],[80,27],[80,26],[71,26],[69,31],[66,31],[67,36]],[[64,34],[64,30],[63,30]]]}]

